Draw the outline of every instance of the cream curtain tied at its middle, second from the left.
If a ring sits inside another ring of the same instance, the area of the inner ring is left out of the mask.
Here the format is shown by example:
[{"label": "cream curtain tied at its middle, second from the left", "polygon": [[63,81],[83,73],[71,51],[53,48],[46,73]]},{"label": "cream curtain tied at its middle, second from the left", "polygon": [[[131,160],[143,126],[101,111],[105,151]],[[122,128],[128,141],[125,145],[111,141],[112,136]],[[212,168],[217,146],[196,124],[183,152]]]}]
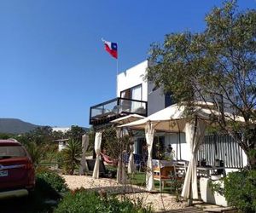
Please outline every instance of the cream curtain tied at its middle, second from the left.
[{"label": "cream curtain tied at its middle, second from the left", "polygon": [[93,174],[92,174],[92,177],[96,179],[99,178],[101,144],[102,144],[102,132],[96,132],[95,141],[94,141],[94,149],[96,152],[96,162],[95,162]]}]

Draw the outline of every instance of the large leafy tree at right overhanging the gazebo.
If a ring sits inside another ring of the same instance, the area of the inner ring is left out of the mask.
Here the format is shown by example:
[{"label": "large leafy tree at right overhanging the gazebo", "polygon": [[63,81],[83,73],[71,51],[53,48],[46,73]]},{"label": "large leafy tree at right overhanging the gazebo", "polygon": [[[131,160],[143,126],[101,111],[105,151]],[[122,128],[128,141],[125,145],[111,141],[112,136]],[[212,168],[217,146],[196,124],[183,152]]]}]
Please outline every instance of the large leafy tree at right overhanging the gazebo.
[{"label": "large leafy tree at right overhanging the gazebo", "polygon": [[[256,168],[256,12],[236,1],[213,8],[204,32],[172,33],[150,47],[147,78],[175,101],[212,101],[219,130],[236,138]],[[224,110],[234,117],[227,121]],[[238,123],[235,115],[244,118]]]}]

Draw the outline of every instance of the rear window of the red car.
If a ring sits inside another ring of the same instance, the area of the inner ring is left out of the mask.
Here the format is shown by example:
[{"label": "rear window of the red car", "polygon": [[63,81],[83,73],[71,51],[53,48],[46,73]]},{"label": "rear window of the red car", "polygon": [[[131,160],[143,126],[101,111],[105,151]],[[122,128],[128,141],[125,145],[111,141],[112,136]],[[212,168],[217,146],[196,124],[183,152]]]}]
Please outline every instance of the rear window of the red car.
[{"label": "rear window of the red car", "polygon": [[0,158],[26,157],[26,151],[20,146],[0,147]]}]

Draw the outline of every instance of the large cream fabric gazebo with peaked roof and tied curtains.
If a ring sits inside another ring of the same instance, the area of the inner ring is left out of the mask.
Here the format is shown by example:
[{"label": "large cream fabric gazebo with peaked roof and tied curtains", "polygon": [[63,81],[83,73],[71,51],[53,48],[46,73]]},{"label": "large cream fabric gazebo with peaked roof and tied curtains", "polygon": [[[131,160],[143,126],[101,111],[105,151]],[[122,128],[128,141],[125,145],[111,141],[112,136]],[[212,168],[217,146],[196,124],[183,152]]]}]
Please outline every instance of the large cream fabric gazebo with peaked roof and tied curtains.
[{"label": "large cream fabric gazebo with peaked roof and tied curtains", "polygon": [[[185,181],[183,184],[183,192],[182,196],[184,199],[189,199],[190,194],[193,199],[198,198],[197,192],[197,178],[196,178],[196,164],[195,164],[195,154],[198,150],[199,145],[201,144],[202,138],[205,134],[205,129],[207,122],[211,120],[212,116],[221,116],[221,113],[213,109],[213,104],[210,102],[202,102],[195,101],[193,104],[193,116],[188,115],[188,111],[186,110],[188,105],[186,103],[175,104],[170,107],[166,107],[159,112],[155,112],[154,114],[148,116],[147,118],[143,118],[141,120],[137,120],[131,122],[130,124],[123,124],[119,127],[127,127],[135,130],[145,130],[147,144],[150,143],[148,139],[148,125],[151,126],[151,132],[154,130],[158,131],[166,131],[166,132],[185,132],[186,134],[186,142],[190,147],[190,161],[188,172],[186,173]],[[243,121],[243,118],[234,116],[229,112],[224,113],[224,117],[226,119],[232,119],[237,121]],[[152,136],[152,135],[151,135]],[[154,137],[154,135],[153,135]],[[153,175],[153,168],[150,164],[150,160],[152,160],[152,153],[149,153],[148,150],[148,172],[147,179]],[[190,193],[189,186],[190,182],[192,183]],[[149,191],[151,191],[150,187],[147,187]]]}]

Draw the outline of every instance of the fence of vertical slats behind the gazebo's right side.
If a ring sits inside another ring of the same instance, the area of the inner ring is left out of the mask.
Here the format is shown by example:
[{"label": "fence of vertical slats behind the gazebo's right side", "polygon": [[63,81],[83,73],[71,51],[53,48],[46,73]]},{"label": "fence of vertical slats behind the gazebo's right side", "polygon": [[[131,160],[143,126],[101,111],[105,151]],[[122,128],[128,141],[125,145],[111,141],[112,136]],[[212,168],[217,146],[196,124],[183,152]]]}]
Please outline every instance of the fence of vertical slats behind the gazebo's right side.
[{"label": "fence of vertical slats behind the gazebo's right side", "polygon": [[217,159],[226,168],[243,167],[241,147],[230,135],[206,135],[197,153],[197,160],[202,159],[209,165],[214,165]]}]

